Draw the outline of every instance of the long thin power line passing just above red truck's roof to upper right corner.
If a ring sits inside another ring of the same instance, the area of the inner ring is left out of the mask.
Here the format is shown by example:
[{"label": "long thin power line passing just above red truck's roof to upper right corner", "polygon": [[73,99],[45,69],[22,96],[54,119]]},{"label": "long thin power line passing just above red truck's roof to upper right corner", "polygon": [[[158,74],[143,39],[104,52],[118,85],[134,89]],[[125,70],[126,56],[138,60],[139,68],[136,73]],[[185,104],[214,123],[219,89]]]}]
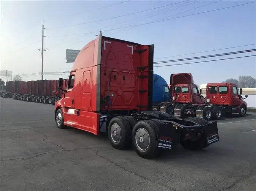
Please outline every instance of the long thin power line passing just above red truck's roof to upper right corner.
[{"label": "long thin power line passing just above red truck's roof to upper right corner", "polygon": [[[193,15],[204,14],[204,13],[207,13],[207,12],[214,12],[214,11],[219,11],[219,10],[223,10],[223,9],[229,9],[229,8],[233,8],[233,7],[237,7],[237,6],[248,5],[248,4],[251,4],[251,3],[255,3],[255,2],[243,3],[243,4],[239,4],[239,5],[228,6],[228,7],[219,8],[219,9],[213,9],[213,10],[210,10],[210,11],[198,12],[198,13],[184,15],[184,16],[180,16],[180,17],[167,18],[167,19],[164,19],[164,20],[148,22],[148,23],[143,23],[143,24],[133,25],[133,26],[143,26],[143,25],[148,25],[148,24],[152,24],[152,23],[158,23],[158,22],[163,22],[163,21],[167,21],[167,20],[173,20],[173,19],[176,19],[176,18],[189,17],[189,16],[193,16]],[[130,27],[133,27],[133,26],[124,26],[124,27],[120,27],[120,28],[108,29],[108,30],[105,30],[105,31],[113,31],[113,30],[117,30],[117,29],[130,28]],[[82,35],[82,34],[91,34],[91,33],[94,33],[94,32],[97,32],[97,31],[85,32],[85,33],[79,33],[79,34],[58,35],[58,36],[52,36],[52,37],[65,37],[65,36],[74,36],[74,35]]]}]

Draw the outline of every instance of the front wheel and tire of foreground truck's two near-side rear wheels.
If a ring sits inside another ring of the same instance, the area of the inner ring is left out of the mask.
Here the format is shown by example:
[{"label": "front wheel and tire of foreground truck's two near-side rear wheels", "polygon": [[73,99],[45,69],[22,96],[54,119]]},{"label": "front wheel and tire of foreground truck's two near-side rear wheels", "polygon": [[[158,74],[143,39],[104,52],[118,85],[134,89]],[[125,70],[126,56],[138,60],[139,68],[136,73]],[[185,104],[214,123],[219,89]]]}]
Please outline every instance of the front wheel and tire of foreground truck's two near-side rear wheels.
[{"label": "front wheel and tire of foreground truck's two near-side rear wheels", "polygon": [[131,132],[131,126],[126,117],[114,117],[108,124],[108,138],[115,149],[130,147]]}]

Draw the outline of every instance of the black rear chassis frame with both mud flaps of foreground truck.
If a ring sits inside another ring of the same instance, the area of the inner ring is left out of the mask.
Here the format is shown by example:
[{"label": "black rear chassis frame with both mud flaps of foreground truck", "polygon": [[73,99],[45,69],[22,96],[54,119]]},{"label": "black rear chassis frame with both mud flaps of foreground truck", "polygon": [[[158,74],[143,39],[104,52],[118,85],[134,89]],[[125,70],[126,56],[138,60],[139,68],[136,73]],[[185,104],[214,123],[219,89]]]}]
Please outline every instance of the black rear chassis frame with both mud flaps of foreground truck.
[{"label": "black rear chassis frame with both mud flaps of foreground truck", "polygon": [[[127,115],[115,114],[106,116],[106,127],[113,117],[126,117]],[[206,125],[199,125],[196,122],[192,122],[186,119],[168,118],[170,115],[166,115],[160,111],[142,111],[141,113],[131,114],[129,116],[134,117],[137,121],[140,120],[161,120],[163,123],[158,123],[157,132],[157,149],[169,150],[174,145],[179,144],[180,141],[190,140],[195,142],[201,136],[205,140],[206,146],[209,146],[219,141],[217,122],[207,123]],[[166,118],[167,117],[167,118]],[[101,125],[102,126],[102,125]],[[106,129],[107,133],[107,129]]]}]

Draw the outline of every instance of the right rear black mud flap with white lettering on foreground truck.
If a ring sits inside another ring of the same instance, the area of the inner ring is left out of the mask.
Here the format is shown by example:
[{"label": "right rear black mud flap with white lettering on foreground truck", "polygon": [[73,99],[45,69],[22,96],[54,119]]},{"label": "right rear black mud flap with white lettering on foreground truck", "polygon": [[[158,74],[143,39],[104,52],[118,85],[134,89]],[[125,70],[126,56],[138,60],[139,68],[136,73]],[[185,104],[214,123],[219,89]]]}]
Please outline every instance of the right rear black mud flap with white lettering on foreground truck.
[{"label": "right rear black mud flap with white lettering on foreground truck", "polygon": [[204,126],[205,139],[207,146],[219,141],[217,121]]}]

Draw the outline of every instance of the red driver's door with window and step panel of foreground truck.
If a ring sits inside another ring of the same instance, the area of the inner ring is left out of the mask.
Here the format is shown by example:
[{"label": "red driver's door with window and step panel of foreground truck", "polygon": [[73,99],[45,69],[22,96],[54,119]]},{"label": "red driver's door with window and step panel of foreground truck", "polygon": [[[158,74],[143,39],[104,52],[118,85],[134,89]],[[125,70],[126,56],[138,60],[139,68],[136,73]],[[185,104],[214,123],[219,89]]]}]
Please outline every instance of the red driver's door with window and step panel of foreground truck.
[{"label": "red driver's door with window and step panel of foreground truck", "polygon": [[75,111],[75,74],[71,73],[66,86],[66,93],[63,95],[63,117],[64,124],[67,126],[76,126],[76,111]]}]

